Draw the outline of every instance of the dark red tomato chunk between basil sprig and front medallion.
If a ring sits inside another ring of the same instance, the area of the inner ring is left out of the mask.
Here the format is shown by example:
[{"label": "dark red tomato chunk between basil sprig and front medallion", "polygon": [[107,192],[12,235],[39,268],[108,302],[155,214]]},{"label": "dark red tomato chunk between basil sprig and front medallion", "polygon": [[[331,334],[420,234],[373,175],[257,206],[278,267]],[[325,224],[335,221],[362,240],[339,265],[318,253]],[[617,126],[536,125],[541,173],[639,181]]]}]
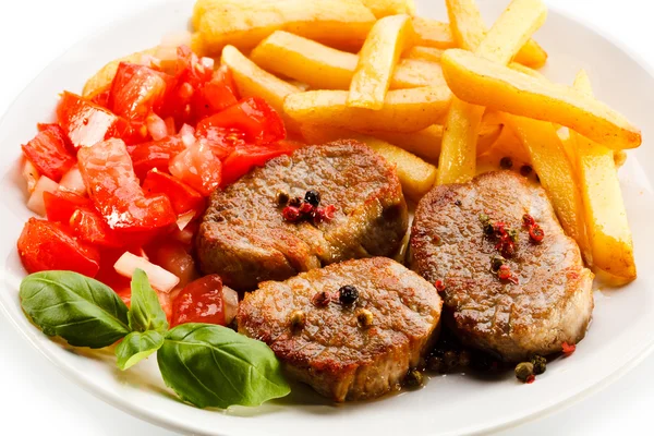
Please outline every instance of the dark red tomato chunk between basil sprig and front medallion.
[{"label": "dark red tomato chunk between basil sprig and front medallion", "polygon": [[171,327],[186,323],[225,325],[222,280],[214,274],[186,284],[172,302]]}]

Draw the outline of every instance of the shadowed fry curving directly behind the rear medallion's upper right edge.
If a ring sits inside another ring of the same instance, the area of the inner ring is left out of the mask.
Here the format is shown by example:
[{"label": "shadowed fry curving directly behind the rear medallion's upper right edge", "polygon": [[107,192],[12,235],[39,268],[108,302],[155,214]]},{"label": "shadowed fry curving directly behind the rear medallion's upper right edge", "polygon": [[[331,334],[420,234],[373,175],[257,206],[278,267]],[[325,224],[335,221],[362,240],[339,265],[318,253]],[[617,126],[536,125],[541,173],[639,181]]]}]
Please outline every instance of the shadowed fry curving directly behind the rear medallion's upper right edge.
[{"label": "shadowed fry curving directly behind the rear medallion's upper right edge", "polygon": [[302,125],[302,136],[308,144],[324,144],[337,140],[356,140],[384,156],[396,167],[404,195],[420,201],[434,186],[437,169],[405,149],[373,136],[346,129],[324,125]]}]

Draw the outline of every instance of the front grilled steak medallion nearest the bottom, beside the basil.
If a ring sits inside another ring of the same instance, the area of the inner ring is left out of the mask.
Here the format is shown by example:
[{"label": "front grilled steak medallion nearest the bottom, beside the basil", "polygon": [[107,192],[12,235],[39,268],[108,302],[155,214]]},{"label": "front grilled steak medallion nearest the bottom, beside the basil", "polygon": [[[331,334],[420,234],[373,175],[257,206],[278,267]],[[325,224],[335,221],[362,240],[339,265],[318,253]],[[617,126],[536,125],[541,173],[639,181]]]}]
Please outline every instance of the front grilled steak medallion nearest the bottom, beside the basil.
[{"label": "front grilled steak medallion nearest the bottom, beside the basil", "polygon": [[[343,304],[339,289],[348,286],[358,296],[348,289]],[[428,350],[441,304],[417,274],[373,257],[261,283],[237,319],[239,331],[266,342],[291,375],[344,401],[397,388]]]}]

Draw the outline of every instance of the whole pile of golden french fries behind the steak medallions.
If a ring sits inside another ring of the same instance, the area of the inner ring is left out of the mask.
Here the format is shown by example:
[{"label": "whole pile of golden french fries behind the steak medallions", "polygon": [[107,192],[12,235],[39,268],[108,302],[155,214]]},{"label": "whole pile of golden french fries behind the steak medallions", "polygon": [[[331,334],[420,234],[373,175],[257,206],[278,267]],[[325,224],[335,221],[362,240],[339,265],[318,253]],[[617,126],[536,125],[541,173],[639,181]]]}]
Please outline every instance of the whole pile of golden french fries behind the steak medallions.
[{"label": "whole pile of golden french fries behind the steak medallions", "polygon": [[533,168],[586,263],[633,280],[617,167],[640,131],[593,97],[585,72],[570,87],[536,71],[542,0],[512,0],[491,28],[475,0],[445,1],[449,23],[416,16],[413,0],[197,0],[191,44],[298,137],[370,145],[413,201],[470,181],[482,161]]}]

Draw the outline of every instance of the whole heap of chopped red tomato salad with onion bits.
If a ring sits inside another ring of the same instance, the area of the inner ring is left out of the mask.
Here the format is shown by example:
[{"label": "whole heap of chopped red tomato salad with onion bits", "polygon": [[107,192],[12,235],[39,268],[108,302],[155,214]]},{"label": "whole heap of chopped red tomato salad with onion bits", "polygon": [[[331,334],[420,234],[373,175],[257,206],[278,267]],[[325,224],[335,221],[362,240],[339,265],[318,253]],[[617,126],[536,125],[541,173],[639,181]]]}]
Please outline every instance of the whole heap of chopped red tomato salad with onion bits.
[{"label": "whole heap of chopped red tomato salad with onion bits", "polygon": [[88,98],[64,92],[57,122],[23,145],[27,205],[45,217],[25,223],[23,265],[96,278],[126,304],[140,268],[171,326],[229,324],[235,293],[199,278],[191,254],[206,198],[299,145],[265,100],[241,98],[227,68],[187,47],[120,63]]}]

